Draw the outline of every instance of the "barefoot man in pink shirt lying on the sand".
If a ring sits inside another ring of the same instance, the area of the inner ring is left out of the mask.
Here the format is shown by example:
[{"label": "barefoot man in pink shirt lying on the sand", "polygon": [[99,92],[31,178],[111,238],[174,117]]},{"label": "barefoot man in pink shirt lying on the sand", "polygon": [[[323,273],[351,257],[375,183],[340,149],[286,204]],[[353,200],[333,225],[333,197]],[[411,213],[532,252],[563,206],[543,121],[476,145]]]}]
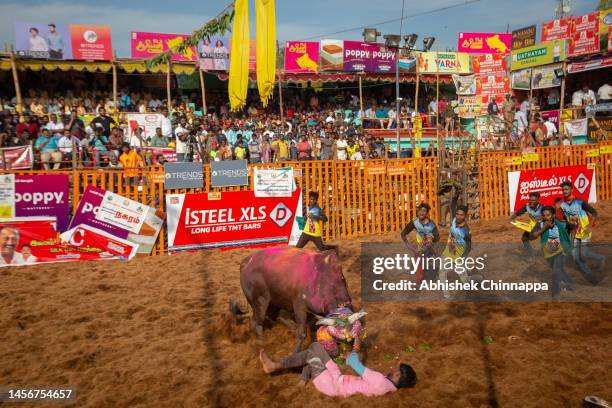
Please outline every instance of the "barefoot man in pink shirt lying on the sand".
[{"label": "barefoot man in pink shirt lying on the sand", "polygon": [[294,353],[278,362],[271,360],[264,350],[259,353],[259,359],[268,374],[288,368],[303,367],[303,383],[311,378],[315,388],[330,397],[348,397],[353,394],[363,394],[368,397],[383,395],[397,391],[399,388],[414,387],[416,384],[416,373],[408,364],[400,364],[385,376],[365,367],[355,352],[348,355],[346,362],[359,374],[359,377],[344,375],[323,346],[317,342],[312,343],[306,350]]}]

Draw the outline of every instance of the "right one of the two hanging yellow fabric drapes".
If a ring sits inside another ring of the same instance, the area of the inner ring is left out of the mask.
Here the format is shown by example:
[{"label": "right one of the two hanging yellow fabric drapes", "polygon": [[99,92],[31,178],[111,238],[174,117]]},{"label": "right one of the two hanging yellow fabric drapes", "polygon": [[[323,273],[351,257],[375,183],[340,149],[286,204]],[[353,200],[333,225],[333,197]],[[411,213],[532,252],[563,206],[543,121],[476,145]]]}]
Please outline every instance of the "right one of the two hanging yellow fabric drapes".
[{"label": "right one of the two hanging yellow fabric drapes", "polygon": [[257,87],[263,106],[274,93],[276,76],[276,15],[274,0],[255,0],[257,17]]}]

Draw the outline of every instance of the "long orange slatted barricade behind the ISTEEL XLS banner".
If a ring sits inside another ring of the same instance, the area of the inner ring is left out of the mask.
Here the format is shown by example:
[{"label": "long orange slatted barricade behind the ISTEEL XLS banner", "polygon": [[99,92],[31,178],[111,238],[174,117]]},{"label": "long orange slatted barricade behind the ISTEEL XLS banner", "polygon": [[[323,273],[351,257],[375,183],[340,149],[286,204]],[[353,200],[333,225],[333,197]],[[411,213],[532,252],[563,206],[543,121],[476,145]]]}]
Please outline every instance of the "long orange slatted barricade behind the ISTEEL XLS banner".
[{"label": "long orange slatted barricade behind the ISTEEL XLS banner", "polygon": [[[291,166],[303,191],[303,205],[308,193],[319,192],[319,204],[327,212],[329,222],[324,238],[337,239],[399,231],[416,216],[420,202],[431,205],[431,214],[438,214],[437,158],[365,161],[297,161],[249,165],[249,185],[210,188],[210,168],[204,168],[203,189],[165,190],[162,167],[116,170],[58,170],[53,174],[71,175],[70,208],[74,212],[87,185],[104,188],[165,210],[165,195],[208,191],[238,191],[253,188],[253,169]],[[15,174],[48,174],[47,171],[13,170]],[[165,226],[152,255],[167,252]]]}]

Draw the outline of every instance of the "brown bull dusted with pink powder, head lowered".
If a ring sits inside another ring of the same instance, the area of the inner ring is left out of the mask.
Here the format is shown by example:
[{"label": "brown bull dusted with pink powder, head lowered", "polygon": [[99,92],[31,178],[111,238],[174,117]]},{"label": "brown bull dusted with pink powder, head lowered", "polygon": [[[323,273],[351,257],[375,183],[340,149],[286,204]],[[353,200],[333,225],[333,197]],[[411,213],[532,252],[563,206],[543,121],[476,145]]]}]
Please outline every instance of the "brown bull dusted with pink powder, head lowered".
[{"label": "brown bull dusted with pink powder, head lowered", "polygon": [[258,337],[266,317],[274,321],[280,310],[293,312],[296,351],[306,338],[309,312],[320,317],[339,307],[352,307],[334,253],[293,247],[257,251],[240,265],[240,286],[253,311],[251,326]]}]

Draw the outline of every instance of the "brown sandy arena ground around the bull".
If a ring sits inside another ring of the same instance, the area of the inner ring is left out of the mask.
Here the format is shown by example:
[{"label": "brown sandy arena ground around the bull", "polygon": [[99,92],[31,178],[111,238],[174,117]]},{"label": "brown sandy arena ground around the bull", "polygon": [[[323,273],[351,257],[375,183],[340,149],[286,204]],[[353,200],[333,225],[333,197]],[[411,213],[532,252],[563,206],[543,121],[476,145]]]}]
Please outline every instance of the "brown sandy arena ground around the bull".
[{"label": "brown sandy arena ground around the bull", "polygon": [[[612,242],[612,202],[597,207],[596,239]],[[482,242],[520,235],[506,220],[472,230]],[[398,240],[336,242],[355,304],[360,242]],[[229,324],[228,301],[245,304],[238,265],[249,253],[2,269],[0,385],[74,387],[79,407],[575,407],[589,394],[612,401],[612,303],[368,303],[367,365],[386,372],[408,362],[416,388],[334,400],[299,387],[296,373],[265,375],[258,350],[281,357],[294,335],[277,324],[262,344],[248,320]]]}]

